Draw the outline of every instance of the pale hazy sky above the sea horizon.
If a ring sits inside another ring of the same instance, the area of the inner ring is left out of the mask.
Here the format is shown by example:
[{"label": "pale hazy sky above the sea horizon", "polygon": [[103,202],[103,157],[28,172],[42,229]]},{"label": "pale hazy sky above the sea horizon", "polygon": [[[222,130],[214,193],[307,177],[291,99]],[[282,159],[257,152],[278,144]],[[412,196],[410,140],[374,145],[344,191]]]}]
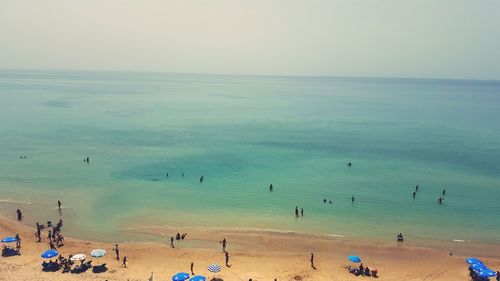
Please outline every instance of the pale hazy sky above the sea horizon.
[{"label": "pale hazy sky above the sea horizon", "polygon": [[500,80],[500,0],[0,0],[0,68]]}]

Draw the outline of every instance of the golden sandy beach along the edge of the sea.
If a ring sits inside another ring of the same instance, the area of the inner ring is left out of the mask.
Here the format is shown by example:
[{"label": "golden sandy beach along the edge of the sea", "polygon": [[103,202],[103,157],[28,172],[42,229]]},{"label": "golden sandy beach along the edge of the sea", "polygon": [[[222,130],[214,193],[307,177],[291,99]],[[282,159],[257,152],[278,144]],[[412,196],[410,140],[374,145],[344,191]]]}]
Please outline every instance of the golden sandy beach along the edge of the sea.
[{"label": "golden sandy beach along the edge of the sea", "polygon": [[[108,254],[100,259],[109,270],[105,273],[87,271],[81,274],[42,272],[40,253],[47,243],[36,243],[33,229],[9,219],[0,219],[0,236],[19,233],[22,238],[22,255],[0,258],[0,280],[147,280],[154,272],[154,280],[170,280],[177,272],[194,272],[207,277],[217,276],[224,280],[359,280],[372,277],[355,277],[345,266],[346,256],[358,254],[365,265],[378,269],[378,280],[468,280],[466,256],[449,255],[448,251],[423,247],[386,243],[353,242],[342,238],[315,237],[297,234],[225,232],[228,240],[231,267],[224,267],[224,255],[216,237],[216,231],[190,230],[185,241],[176,248],[165,243],[130,242],[120,244],[122,256],[129,260],[128,268],[114,259],[112,243],[100,243],[66,238],[59,249],[69,254],[89,252],[102,248]],[[147,229],[162,235],[168,229]],[[211,234],[209,234],[211,233]],[[203,239],[201,238],[203,237]],[[221,238],[222,239],[222,238]],[[196,241],[196,242],[193,242]],[[316,270],[311,268],[310,252],[315,254]],[[481,257],[481,256],[480,256]],[[500,258],[482,257],[490,268],[500,267]],[[94,261],[96,263],[96,261]],[[223,266],[220,273],[211,274],[207,266],[217,263]]]}]

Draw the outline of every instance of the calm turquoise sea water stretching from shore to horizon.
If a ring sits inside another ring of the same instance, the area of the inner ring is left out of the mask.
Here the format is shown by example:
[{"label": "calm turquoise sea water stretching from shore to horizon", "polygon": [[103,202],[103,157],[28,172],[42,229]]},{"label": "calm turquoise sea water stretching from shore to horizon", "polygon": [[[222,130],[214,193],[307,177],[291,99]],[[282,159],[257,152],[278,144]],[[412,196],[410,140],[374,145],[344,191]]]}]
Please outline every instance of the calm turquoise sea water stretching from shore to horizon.
[{"label": "calm turquoise sea water stretching from shore to horizon", "polygon": [[0,71],[0,99],[0,213],[28,223],[60,199],[92,239],[168,224],[500,243],[500,82]]}]

